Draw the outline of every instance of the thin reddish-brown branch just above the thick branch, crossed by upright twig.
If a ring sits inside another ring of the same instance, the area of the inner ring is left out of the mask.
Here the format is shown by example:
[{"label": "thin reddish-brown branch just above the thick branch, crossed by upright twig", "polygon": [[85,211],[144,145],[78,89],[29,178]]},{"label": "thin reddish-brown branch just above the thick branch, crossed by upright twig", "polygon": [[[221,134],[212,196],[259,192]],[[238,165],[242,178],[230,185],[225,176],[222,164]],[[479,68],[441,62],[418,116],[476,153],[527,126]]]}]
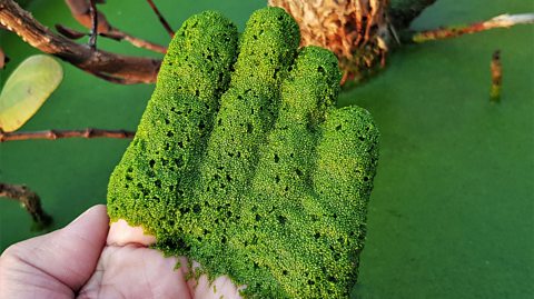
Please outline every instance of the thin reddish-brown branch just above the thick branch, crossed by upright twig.
[{"label": "thin reddish-brown branch just above the thick branch, crossed by upright twig", "polygon": [[[92,1],[92,0],[91,0]],[[85,28],[91,29],[92,28],[92,18],[91,18],[91,7],[87,0],[66,0],[65,1],[72,13],[72,17]],[[136,38],[127,32],[119,30],[118,28],[112,27],[106,16],[97,11],[97,19],[98,19],[98,33],[100,36],[110,37],[115,40],[125,40],[129,43],[138,47],[144,48],[150,51],[155,51],[158,53],[166,53],[167,48],[150,41],[146,41],[139,38]]]}]

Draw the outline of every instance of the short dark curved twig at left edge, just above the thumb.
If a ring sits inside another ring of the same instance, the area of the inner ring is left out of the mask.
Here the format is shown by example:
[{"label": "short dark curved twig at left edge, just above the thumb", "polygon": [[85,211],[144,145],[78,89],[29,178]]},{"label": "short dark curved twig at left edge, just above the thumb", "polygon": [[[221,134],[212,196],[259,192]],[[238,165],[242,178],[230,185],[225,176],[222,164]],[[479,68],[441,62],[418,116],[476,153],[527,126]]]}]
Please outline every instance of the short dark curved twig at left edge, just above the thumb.
[{"label": "short dark curved twig at left edge, just above the thumb", "polygon": [[0,197],[19,201],[33,219],[33,230],[46,229],[52,223],[52,217],[42,209],[39,196],[28,187],[0,182]]}]

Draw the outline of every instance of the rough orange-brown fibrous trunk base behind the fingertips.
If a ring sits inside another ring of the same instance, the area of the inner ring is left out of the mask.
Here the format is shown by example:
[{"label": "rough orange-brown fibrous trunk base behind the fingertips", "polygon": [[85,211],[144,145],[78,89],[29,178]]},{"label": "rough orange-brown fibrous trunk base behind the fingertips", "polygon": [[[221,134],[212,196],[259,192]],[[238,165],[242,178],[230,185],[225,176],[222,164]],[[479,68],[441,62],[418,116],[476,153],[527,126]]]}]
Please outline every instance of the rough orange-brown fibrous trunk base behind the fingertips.
[{"label": "rough orange-brown fibrous trunk base behind the fingertips", "polygon": [[384,64],[389,41],[389,0],[269,0],[299,23],[303,46],[330,49],[346,80],[360,80]]}]

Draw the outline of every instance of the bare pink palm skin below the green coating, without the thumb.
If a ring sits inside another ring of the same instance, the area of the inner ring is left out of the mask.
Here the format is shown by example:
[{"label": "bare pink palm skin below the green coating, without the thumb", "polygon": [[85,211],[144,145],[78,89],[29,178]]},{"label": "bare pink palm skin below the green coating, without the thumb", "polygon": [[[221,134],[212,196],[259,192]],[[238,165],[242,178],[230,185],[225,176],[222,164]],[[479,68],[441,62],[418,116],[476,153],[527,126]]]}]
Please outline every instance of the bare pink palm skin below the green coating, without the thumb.
[{"label": "bare pink palm skin below the green coating, without the thumb", "polygon": [[[123,220],[115,222],[95,272],[77,298],[239,298],[237,288],[227,277],[208,283],[205,276],[187,279],[185,258],[164,258],[148,248],[154,237],[131,228]],[[184,266],[175,269],[177,262]],[[214,291],[214,287],[216,291]]]}]

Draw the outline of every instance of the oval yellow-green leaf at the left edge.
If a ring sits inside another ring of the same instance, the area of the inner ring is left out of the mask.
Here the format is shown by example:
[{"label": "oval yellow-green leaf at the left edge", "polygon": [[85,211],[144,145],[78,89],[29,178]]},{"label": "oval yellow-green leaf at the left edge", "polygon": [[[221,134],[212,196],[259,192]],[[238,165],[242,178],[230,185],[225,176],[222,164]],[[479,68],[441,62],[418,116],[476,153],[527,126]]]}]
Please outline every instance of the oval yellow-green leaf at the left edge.
[{"label": "oval yellow-green leaf at the left edge", "polygon": [[51,57],[37,54],[22,61],[0,93],[0,129],[12,132],[22,127],[62,78],[61,64]]}]

